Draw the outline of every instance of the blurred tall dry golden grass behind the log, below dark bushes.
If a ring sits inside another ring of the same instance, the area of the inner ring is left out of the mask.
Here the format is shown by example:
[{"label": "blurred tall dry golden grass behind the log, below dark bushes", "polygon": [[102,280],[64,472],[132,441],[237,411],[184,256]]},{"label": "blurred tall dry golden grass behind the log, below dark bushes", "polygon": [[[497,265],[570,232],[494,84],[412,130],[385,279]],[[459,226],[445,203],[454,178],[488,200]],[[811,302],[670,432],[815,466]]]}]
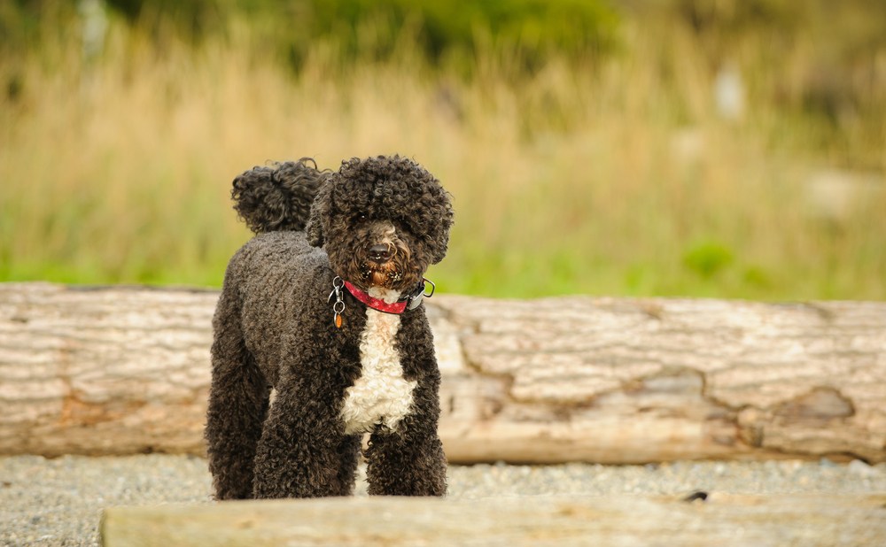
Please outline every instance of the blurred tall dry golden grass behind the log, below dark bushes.
[{"label": "blurred tall dry golden grass behind the log, below dark bushes", "polygon": [[745,118],[719,119],[679,29],[663,43],[628,28],[617,56],[532,76],[490,50],[470,80],[408,44],[347,66],[318,44],[292,76],[244,29],[158,50],[113,24],[91,63],[64,36],[0,61],[23,82],[0,104],[0,279],[218,285],[249,236],[229,204],[237,173],[400,153],[455,198],[429,275],[441,289],[886,297],[886,201],[817,216],[805,181],[828,158],[754,81]]}]

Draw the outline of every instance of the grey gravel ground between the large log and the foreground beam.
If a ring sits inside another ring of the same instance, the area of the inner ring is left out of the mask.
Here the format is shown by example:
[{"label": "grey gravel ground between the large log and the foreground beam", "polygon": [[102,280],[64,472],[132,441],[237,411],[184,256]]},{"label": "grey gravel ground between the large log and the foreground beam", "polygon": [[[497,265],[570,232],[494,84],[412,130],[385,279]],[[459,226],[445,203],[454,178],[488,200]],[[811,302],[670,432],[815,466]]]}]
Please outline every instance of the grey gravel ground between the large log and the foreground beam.
[{"label": "grey gravel ground between the large log and the foreground beam", "polygon": [[[0,458],[0,545],[97,545],[112,505],[210,503],[206,460],[188,456]],[[886,492],[886,465],[862,461],[677,462],[658,466],[452,466],[449,497]],[[358,495],[366,484],[358,483]]]}]

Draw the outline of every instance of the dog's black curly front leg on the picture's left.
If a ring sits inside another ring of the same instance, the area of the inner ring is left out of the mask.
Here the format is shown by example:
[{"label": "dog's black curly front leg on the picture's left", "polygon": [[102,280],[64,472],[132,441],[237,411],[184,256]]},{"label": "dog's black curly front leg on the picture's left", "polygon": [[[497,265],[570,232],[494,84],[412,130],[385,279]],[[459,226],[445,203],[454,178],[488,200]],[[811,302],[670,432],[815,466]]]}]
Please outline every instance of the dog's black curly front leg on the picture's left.
[{"label": "dog's black curly front leg on the picture's left", "polygon": [[354,487],[360,444],[330,427],[320,401],[299,400],[294,386],[278,386],[255,455],[256,498],[347,496]]}]

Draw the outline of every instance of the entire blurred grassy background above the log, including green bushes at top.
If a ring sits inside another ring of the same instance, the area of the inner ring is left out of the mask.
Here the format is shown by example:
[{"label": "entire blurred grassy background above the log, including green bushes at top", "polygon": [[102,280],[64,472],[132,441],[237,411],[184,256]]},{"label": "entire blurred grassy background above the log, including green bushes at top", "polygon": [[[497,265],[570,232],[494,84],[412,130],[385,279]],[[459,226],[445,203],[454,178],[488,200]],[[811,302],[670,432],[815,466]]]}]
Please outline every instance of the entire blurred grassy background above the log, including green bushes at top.
[{"label": "entire blurred grassy background above the log, including green bushes at top", "polygon": [[13,0],[0,86],[0,281],[218,286],[237,173],[400,153],[443,290],[886,297],[882,0]]}]

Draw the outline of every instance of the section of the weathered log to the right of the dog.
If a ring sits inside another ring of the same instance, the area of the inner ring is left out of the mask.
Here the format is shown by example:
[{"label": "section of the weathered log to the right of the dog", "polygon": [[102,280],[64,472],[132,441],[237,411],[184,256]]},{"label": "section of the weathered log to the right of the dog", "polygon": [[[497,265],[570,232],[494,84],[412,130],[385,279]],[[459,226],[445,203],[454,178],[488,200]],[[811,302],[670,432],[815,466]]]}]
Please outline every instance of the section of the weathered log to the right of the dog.
[{"label": "section of the weathered log to the right of the dog", "polygon": [[447,297],[463,460],[886,459],[886,304]]}]

